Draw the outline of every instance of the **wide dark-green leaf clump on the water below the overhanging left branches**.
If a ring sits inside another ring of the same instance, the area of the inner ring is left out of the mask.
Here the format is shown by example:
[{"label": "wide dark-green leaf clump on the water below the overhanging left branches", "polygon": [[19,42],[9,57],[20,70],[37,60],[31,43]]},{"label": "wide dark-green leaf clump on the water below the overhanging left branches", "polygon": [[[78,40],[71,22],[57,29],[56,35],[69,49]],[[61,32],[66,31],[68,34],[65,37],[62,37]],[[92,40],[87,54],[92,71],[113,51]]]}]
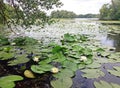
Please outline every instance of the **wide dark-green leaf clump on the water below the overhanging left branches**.
[{"label": "wide dark-green leaf clump on the water below the overhanging left branches", "polygon": [[34,45],[37,44],[37,40],[30,38],[30,37],[17,37],[13,40],[14,43],[18,46],[23,46],[23,45]]}]

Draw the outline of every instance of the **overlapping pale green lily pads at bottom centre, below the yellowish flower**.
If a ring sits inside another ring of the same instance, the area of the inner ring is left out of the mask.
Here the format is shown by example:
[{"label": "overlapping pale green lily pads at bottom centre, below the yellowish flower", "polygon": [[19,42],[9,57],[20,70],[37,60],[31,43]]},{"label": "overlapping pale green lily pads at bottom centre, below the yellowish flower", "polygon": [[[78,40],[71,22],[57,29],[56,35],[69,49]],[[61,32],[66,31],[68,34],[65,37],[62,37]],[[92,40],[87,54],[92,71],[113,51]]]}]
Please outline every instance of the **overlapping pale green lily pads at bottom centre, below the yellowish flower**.
[{"label": "overlapping pale green lily pads at bottom centre, below the yellowish flower", "polygon": [[74,76],[74,73],[70,69],[61,70],[60,73],[54,74],[53,76],[58,78],[51,81],[53,88],[70,88],[72,86],[71,77]]}]

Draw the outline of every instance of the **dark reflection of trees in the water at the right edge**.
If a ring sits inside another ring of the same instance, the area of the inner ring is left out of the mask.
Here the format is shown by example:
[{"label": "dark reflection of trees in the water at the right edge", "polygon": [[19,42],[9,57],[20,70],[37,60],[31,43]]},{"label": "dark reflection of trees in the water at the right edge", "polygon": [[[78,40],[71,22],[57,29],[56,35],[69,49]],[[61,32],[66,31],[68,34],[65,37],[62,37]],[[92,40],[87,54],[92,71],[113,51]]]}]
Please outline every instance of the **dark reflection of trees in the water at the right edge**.
[{"label": "dark reflection of trees in the water at the right edge", "polygon": [[107,40],[113,40],[116,51],[120,51],[120,34],[108,34]]}]

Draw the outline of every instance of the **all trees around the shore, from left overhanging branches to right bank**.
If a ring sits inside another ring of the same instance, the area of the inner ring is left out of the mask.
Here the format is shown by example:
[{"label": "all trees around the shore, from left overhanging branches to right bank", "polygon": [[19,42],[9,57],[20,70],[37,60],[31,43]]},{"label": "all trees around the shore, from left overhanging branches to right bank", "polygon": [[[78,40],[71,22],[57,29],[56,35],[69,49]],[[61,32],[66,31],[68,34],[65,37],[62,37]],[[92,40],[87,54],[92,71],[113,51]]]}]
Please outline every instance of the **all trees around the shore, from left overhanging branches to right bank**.
[{"label": "all trees around the shore, from left overhanging branches to right bank", "polygon": [[[5,2],[6,1],[6,2]],[[100,18],[100,20],[120,20],[120,0],[104,4],[100,14],[76,15],[72,11],[57,10],[47,16],[46,10],[61,7],[60,0],[0,0],[0,23],[19,25],[45,25],[51,18]]]}]

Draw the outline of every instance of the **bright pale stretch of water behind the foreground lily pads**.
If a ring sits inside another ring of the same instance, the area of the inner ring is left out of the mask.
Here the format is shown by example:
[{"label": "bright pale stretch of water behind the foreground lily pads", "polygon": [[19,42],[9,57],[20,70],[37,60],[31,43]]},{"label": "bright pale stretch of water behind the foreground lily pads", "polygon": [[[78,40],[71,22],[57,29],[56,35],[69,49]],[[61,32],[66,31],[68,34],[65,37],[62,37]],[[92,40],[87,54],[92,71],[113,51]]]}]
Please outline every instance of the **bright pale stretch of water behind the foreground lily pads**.
[{"label": "bright pale stretch of water behind the foreground lily pads", "polygon": [[[33,26],[32,29],[24,32],[25,35],[34,37],[44,44],[60,43],[61,36],[65,33],[89,34],[95,36],[103,45],[115,47],[116,51],[120,51],[120,25],[103,25],[96,18],[62,20],[53,25],[47,25],[44,29],[36,26]],[[115,32],[116,30],[119,32]]]}]

